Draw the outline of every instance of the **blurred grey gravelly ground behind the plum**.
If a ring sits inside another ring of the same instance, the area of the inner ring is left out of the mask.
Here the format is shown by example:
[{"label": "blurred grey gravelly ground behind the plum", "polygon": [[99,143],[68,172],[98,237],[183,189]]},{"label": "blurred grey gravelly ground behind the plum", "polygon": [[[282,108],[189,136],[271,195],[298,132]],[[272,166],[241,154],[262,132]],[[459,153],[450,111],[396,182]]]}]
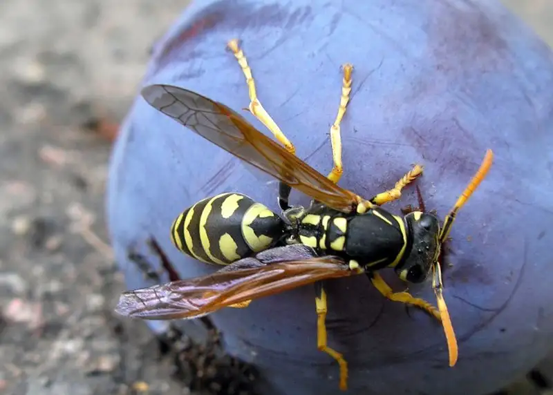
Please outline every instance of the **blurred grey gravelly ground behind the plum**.
[{"label": "blurred grey gravelly ground behind the plum", "polygon": [[[503,1],[553,46],[553,1]],[[0,394],[190,393],[146,325],[113,314],[104,221],[118,122],[187,3],[0,1]],[[504,393],[551,383],[553,358]]]}]

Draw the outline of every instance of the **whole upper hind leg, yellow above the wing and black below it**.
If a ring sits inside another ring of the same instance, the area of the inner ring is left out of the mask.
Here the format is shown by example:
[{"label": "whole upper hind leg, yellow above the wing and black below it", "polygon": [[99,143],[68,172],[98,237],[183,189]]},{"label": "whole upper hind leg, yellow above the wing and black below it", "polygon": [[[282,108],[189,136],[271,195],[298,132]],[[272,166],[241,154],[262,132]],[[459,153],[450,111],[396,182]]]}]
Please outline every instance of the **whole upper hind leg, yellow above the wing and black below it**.
[{"label": "whole upper hind leg, yellow above the wing and black below it", "polygon": [[[286,135],[281,131],[281,128],[279,128],[277,123],[274,122],[274,120],[267,113],[265,108],[263,108],[263,105],[261,105],[261,102],[259,102],[259,99],[257,97],[254,77],[252,75],[252,69],[250,68],[250,65],[247,64],[247,59],[244,55],[243,50],[241,50],[240,46],[238,46],[238,40],[237,39],[230,40],[227,43],[227,46],[234,54],[234,57],[236,57],[236,60],[238,61],[238,64],[242,69],[242,73],[244,73],[248,92],[250,94],[250,106],[248,106],[250,113],[252,113],[257,119],[259,119],[259,121],[263,125],[265,125],[266,128],[269,129],[269,131],[274,135],[274,138],[276,138],[277,141],[284,146],[286,151],[295,155],[296,148],[294,147],[294,144],[290,142],[288,137],[286,137]],[[290,186],[284,184],[283,182],[280,182],[279,206],[283,211],[290,209],[290,206],[288,205],[288,198],[290,197],[291,190],[292,189],[290,188]]]}]

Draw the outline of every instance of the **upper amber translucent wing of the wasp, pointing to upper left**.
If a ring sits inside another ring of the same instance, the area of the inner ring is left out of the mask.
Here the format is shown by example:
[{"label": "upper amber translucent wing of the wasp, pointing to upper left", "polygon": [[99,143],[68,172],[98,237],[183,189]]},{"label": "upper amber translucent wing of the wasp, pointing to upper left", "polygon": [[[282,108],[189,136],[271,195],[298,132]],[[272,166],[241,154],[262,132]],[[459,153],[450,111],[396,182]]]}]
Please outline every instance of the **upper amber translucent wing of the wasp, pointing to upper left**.
[{"label": "upper amber translucent wing of the wasp, pointing to upper left", "polygon": [[146,101],[198,135],[332,209],[349,213],[359,198],[286,151],[224,104],[170,85],[142,90]]}]

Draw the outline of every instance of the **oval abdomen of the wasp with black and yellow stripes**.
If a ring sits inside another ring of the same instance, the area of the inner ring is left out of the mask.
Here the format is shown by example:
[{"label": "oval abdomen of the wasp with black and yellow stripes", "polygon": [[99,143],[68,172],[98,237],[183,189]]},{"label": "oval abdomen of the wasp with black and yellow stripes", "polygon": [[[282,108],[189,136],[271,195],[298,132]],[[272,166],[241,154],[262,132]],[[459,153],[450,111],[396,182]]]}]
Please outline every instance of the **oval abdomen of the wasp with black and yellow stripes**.
[{"label": "oval abdomen of the wasp with black and yellow stripes", "polygon": [[263,204],[240,193],[222,193],[178,215],[171,240],[192,258],[229,264],[272,247],[283,231],[283,220]]}]

